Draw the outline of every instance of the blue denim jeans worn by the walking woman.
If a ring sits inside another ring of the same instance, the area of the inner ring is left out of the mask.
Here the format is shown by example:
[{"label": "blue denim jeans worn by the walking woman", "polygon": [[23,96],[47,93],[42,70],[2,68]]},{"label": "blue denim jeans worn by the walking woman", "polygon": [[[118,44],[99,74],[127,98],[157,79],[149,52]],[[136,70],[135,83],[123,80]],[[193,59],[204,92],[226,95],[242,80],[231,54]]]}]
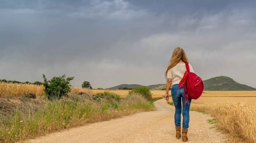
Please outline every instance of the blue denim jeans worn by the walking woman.
[{"label": "blue denim jeans worn by the walking woman", "polygon": [[186,129],[188,128],[189,123],[189,107],[191,103],[191,99],[188,99],[188,102],[185,105],[185,98],[184,98],[184,85],[179,88],[179,84],[174,84],[171,90],[172,93],[172,99],[175,106],[175,115],[174,115],[174,121],[175,126],[180,126],[180,120],[181,120],[181,100],[182,100],[182,116],[183,116],[183,122],[182,122],[182,128]]}]

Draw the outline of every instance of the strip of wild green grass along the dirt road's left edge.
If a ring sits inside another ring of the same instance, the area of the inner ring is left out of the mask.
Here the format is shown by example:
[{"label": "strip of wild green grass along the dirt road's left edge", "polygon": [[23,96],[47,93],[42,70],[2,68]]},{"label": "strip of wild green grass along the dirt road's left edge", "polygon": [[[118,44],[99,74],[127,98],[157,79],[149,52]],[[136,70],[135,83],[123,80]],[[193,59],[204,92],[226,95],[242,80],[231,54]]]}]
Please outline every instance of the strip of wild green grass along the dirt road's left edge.
[{"label": "strip of wild green grass along the dirt road's left edge", "polygon": [[65,97],[48,101],[45,106],[29,115],[17,109],[9,117],[3,118],[0,123],[0,142],[15,142],[154,109],[153,102],[147,101],[140,94],[129,94],[126,98],[119,99],[116,95],[105,93],[100,100],[88,96]]}]

